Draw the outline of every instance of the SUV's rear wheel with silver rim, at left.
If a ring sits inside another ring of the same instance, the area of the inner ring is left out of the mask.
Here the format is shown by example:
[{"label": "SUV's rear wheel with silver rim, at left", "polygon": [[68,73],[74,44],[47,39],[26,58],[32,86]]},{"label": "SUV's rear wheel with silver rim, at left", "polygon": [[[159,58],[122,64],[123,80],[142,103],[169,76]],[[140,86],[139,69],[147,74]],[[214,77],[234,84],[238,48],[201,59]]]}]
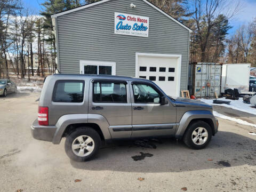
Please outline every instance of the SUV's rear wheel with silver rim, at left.
[{"label": "SUV's rear wheel with silver rim, at left", "polygon": [[101,139],[97,131],[91,127],[78,127],[67,135],[65,151],[74,161],[84,162],[91,160],[98,153],[100,145]]}]

